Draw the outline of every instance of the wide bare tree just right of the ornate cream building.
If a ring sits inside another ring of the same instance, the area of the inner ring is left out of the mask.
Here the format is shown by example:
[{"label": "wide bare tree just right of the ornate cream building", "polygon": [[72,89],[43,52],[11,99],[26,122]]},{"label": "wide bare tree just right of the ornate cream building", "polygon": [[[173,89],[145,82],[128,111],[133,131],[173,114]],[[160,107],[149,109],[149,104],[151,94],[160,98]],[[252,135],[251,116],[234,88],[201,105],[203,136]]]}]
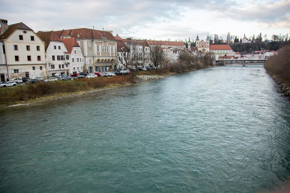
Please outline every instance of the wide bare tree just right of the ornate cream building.
[{"label": "wide bare tree just right of the ornate cream building", "polygon": [[133,67],[139,56],[138,47],[134,43],[125,43],[122,51],[117,54],[119,63],[125,68]]}]

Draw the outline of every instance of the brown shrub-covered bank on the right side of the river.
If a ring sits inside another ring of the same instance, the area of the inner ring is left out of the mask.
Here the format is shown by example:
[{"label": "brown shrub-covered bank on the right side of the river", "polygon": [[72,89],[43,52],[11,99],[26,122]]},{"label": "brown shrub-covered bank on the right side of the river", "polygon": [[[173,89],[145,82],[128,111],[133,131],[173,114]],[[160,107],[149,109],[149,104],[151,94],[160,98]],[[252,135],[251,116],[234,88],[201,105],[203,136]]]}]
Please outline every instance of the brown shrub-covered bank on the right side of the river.
[{"label": "brown shrub-covered bank on the right side of the river", "polygon": [[268,58],[264,67],[290,97],[290,45],[284,46],[278,55]]}]

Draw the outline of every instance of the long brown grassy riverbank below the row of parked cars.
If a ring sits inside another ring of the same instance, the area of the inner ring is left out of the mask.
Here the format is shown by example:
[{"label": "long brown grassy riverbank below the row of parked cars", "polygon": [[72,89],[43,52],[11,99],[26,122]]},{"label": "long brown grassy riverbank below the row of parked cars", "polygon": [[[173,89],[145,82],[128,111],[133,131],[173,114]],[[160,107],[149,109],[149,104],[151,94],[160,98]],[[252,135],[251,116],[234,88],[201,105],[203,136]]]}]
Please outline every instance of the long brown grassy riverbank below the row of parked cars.
[{"label": "long brown grassy riverbank below the row of parked cars", "polygon": [[170,65],[166,68],[150,71],[139,71],[132,75],[115,76],[111,78],[90,78],[71,81],[41,82],[24,86],[0,89],[0,107],[13,104],[27,104],[50,100],[56,97],[85,94],[98,89],[110,89],[126,83],[135,82],[136,75],[170,75],[192,69],[201,69],[206,65]]}]

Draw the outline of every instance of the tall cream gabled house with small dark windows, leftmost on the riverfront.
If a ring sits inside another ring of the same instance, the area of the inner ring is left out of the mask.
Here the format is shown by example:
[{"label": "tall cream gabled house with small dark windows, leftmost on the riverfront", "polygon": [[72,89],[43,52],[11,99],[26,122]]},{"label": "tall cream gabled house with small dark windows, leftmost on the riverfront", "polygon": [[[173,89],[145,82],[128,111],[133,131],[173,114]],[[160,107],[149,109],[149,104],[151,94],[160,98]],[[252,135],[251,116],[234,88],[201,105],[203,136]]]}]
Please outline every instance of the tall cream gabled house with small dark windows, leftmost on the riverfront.
[{"label": "tall cream gabled house with small dark windows, leftmost on the riverfront", "polygon": [[4,28],[6,29],[1,33],[0,42],[1,57],[6,58],[2,62],[7,65],[7,78],[12,80],[21,77],[46,77],[44,42],[39,36],[24,23],[6,23]]}]

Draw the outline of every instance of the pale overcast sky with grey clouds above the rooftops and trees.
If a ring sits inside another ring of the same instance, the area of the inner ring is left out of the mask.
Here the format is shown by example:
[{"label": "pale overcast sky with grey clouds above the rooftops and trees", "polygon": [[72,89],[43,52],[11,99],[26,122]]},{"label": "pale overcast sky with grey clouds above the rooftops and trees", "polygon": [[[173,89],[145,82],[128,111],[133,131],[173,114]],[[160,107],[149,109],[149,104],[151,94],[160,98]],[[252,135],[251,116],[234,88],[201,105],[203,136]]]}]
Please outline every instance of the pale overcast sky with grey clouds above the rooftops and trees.
[{"label": "pale overcast sky with grey clouds above the rooftops and trees", "polygon": [[0,0],[0,7],[8,25],[23,22],[35,32],[95,26],[122,38],[171,41],[290,35],[290,0]]}]

